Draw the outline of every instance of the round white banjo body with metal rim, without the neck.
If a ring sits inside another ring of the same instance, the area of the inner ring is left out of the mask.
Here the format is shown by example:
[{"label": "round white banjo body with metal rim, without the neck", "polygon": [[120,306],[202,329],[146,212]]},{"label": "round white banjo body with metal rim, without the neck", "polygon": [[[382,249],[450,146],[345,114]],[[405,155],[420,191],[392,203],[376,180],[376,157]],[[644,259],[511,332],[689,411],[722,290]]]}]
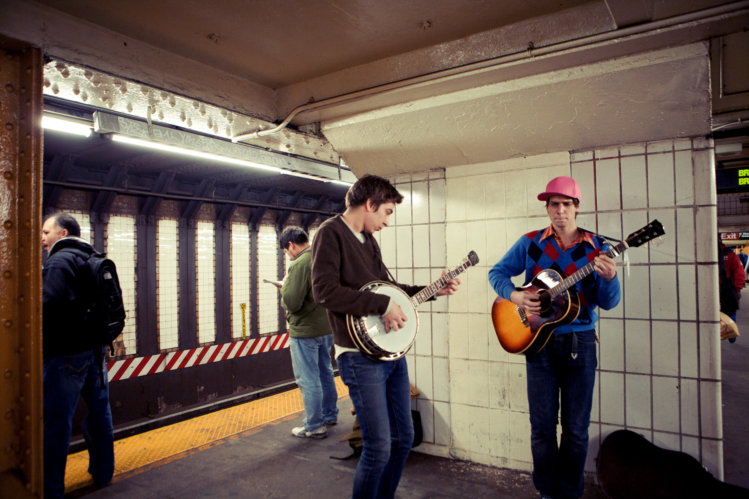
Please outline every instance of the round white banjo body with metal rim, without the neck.
[{"label": "round white banjo body with metal rim, without the neck", "polygon": [[354,319],[359,340],[365,347],[364,350],[369,352],[369,355],[375,356],[377,360],[395,361],[401,358],[413,345],[416,340],[416,331],[419,329],[419,313],[413,307],[410,297],[401,288],[384,281],[369,283],[362,288],[362,291],[389,296],[395,304],[401,307],[407,318],[404,327],[389,333],[385,332],[385,323],[378,315]]}]

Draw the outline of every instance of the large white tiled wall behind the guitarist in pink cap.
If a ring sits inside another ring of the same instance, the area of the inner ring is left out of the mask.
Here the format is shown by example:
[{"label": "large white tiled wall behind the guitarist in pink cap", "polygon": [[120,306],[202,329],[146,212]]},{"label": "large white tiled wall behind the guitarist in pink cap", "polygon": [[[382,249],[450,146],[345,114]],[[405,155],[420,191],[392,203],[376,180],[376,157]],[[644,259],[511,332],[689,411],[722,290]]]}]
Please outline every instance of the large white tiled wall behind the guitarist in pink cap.
[{"label": "large white tiled wall behind the guitarist in pink cap", "polygon": [[398,281],[428,284],[467,251],[480,258],[457,295],[419,310],[419,337],[407,355],[428,442],[418,450],[532,469],[525,358],[504,352],[495,337],[487,273],[518,237],[548,226],[536,195],[569,175],[582,190],[581,227],[623,239],[658,218],[667,232],[629,251],[629,269],[617,276],[622,301],[601,311],[586,469],[595,470],[601,439],[626,427],[691,453],[722,477],[712,155],[712,143],[696,138],[447,168],[444,179],[437,171],[391,179],[405,200],[377,236]]}]

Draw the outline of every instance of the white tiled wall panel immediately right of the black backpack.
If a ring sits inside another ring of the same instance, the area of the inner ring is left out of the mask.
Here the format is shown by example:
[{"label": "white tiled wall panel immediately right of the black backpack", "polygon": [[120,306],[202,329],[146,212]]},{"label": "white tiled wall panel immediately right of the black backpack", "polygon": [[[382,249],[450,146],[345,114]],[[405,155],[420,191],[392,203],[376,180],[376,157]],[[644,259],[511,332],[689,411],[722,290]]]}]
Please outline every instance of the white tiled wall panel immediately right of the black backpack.
[{"label": "white tiled wall panel immediately right of the black backpack", "polygon": [[[80,222],[79,222],[80,223]],[[81,230],[81,234],[83,231]],[[106,256],[117,266],[117,277],[122,289],[122,301],[127,319],[122,331],[125,355],[136,353],[136,219],[132,216],[112,215],[106,227]]]}]

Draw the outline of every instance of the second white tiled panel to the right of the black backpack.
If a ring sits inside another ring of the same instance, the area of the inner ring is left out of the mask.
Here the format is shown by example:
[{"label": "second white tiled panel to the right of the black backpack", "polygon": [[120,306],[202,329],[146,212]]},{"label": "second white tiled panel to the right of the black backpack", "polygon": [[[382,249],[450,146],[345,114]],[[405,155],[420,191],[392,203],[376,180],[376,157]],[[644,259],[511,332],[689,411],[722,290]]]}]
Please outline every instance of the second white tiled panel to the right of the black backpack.
[{"label": "second white tiled panel to the right of the black backpack", "polygon": [[159,349],[179,347],[180,238],[178,221],[161,218],[156,224],[156,294]]}]

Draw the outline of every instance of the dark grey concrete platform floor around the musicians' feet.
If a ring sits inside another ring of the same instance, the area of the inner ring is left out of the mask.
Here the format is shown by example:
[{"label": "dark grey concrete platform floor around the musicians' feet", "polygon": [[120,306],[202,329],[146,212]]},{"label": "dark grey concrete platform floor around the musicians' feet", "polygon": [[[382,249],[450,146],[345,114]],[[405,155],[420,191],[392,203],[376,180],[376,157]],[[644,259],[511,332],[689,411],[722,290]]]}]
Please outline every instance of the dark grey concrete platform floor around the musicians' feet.
[{"label": "dark grey concrete platform floor around the musicians' feet", "polygon": [[[323,439],[291,435],[302,415],[269,423],[207,450],[185,456],[76,497],[100,498],[350,498],[358,459],[337,461],[351,448],[339,438],[351,432],[351,401],[339,402],[339,424]],[[539,498],[530,474],[412,452],[399,499]],[[605,496],[586,483],[586,499]]]}]

